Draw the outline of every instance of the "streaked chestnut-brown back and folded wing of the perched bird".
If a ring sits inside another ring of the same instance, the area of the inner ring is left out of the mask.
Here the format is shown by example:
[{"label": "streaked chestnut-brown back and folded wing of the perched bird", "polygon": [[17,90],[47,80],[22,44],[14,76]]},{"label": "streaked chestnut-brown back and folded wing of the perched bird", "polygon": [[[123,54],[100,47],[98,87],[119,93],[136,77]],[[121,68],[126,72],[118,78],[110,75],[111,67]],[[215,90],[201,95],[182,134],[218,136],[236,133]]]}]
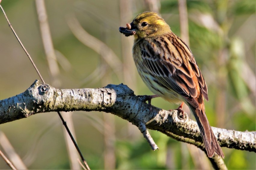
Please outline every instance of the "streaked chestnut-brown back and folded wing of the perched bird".
[{"label": "streaked chestnut-brown back and folded wing of the perched bird", "polygon": [[159,38],[141,44],[140,49],[143,65],[161,86],[177,92],[196,108],[198,101],[195,98],[198,94],[203,94],[208,101],[205,80],[184,42],[181,44],[167,38]]}]

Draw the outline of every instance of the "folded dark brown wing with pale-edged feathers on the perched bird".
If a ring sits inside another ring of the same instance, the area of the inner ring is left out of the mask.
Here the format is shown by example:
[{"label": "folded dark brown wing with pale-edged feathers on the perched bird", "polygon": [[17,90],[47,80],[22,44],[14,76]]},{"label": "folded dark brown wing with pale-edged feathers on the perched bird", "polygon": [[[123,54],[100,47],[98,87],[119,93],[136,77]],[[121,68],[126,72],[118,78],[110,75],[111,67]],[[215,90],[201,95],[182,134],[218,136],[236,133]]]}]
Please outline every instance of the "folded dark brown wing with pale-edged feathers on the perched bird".
[{"label": "folded dark brown wing with pale-edged feathers on the perched bird", "polygon": [[[198,107],[195,98],[199,91],[208,100],[205,80],[193,56],[192,59],[187,58],[188,61],[183,61],[182,57],[176,60],[171,52],[161,49],[156,51],[152,48],[150,44],[146,45],[146,48],[141,48],[142,63],[161,86],[183,96],[195,108]],[[185,62],[187,64],[184,64]]]}]

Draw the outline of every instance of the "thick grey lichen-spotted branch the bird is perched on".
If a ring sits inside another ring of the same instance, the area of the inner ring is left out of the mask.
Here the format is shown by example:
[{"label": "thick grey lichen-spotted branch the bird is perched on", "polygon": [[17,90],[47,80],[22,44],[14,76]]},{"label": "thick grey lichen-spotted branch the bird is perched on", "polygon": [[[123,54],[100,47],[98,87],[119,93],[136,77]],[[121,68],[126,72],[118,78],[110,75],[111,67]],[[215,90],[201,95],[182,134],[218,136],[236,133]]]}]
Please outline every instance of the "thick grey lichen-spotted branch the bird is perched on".
[{"label": "thick grey lichen-spotted branch the bird is perched on", "polygon": [[[126,85],[97,89],[55,89],[35,81],[25,92],[0,101],[0,124],[52,111],[104,111],[136,125],[153,150],[158,149],[147,129],[158,130],[178,141],[201,148],[204,145],[197,123],[187,114],[180,119],[176,110],[149,106]],[[256,133],[212,127],[220,145],[256,152]],[[215,159],[215,158],[213,158]]]}]

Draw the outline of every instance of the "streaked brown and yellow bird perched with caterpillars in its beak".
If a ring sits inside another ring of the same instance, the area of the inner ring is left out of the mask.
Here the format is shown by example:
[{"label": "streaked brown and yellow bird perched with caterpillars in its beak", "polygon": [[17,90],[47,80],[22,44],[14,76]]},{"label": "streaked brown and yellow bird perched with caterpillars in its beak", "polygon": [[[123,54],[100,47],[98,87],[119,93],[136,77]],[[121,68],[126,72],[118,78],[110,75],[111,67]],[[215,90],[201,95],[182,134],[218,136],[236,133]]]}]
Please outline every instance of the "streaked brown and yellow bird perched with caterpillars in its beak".
[{"label": "streaked brown and yellow bird perched with caterpillars in its beak", "polygon": [[[171,103],[187,104],[196,118],[208,157],[224,158],[205,113],[208,101],[206,81],[186,43],[175,35],[156,12],[137,15],[119,31],[134,36],[133,59],[143,82],[155,94]],[[151,99],[151,98],[149,98]]]}]

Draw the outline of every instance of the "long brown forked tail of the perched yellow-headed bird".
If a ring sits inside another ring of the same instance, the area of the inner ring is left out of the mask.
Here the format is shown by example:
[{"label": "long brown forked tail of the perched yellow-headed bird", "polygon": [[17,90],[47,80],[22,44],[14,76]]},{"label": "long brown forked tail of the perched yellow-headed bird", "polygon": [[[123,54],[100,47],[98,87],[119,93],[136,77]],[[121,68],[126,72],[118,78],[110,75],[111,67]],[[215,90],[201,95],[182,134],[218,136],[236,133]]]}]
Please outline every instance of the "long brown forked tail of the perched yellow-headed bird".
[{"label": "long brown forked tail of the perched yellow-headed bird", "polygon": [[199,126],[201,136],[203,137],[203,143],[205,145],[208,157],[213,157],[214,153],[216,152],[216,154],[224,158],[224,154],[216,137],[213,134],[205,112],[202,109],[196,109],[191,105],[190,108],[197,120],[197,125]]}]

